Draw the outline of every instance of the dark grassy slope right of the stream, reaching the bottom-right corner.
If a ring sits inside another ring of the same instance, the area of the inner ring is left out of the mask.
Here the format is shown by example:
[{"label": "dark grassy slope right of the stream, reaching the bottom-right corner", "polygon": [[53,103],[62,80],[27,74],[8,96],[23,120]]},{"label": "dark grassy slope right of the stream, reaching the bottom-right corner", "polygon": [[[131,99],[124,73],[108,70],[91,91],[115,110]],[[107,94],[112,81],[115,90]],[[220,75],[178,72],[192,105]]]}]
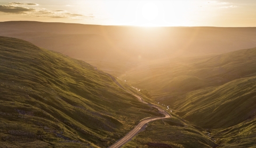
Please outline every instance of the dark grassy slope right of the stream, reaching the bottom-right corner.
[{"label": "dark grassy slope right of the stream, reaching the bottom-right corner", "polygon": [[219,147],[255,147],[256,76],[193,91],[175,102],[180,115],[211,128]]}]

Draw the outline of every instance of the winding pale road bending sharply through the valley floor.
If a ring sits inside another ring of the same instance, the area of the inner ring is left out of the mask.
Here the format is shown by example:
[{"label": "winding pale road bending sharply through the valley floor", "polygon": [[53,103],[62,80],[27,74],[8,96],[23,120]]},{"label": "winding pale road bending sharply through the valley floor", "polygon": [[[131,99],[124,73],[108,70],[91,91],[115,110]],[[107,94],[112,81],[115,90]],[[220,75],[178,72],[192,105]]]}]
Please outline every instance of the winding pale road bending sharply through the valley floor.
[{"label": "winding pale road bending sharply through the valley floor", "polygon": [[[120,86],[122,89],[123,86],[121,84],[119,84],[115,77],[111,76],[110,74],[107,74],[111,77],[111,79],[118,85]],[[124,89],[126,92],[129,92],[131,93],[130,91]],[[156,105],[152,105],[150,103],[147,103],[145,102],[139,95],[136,95],[134,93],[131,93],[133,94],[135,97],[138,98],[138,100],[142,103],[146,103],[148,104],[150,107],[155,107],[158,109],[158,111],[163,114],[165,117],[150,117],[150,118],[145,118],[145,119],[142,119],[140,120],[139,124],[137,126],[135,126],[129,133],[127,133],[123,138],[121,138],[120,140],[116,141],[116,143],[114,143],[113,145],[109,146],[109,148],[117,148],[117,147],[121,147],[122,145],[124,145],[125,143],[129,142],[132,140],[132,138],[134,136],[136,136],[139,132],[141,132],[141,129],[143,129],[143,127],[145,128],[146,124],[149,123],[150,121],[154,121],[154,120],[158,120],[158,119],[164,119],[164,118],[170,118],[171,116],[168,114],[167,111],[165,111],[164,109],[162,108],[159,108],[158,106]]]}]

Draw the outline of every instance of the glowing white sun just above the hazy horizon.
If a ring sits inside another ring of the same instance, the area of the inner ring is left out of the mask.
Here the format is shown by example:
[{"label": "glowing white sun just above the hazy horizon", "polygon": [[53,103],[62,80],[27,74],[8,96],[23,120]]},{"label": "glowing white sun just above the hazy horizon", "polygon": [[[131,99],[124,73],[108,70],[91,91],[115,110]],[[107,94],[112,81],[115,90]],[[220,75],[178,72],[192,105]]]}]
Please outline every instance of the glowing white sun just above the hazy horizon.
[{"label": "glowing white sun just above the hazy horizon", "polygon": [[141,12],[144,19],[152,21],[157,18],[158,7],[154,3],[146,3],[143,5]]}]

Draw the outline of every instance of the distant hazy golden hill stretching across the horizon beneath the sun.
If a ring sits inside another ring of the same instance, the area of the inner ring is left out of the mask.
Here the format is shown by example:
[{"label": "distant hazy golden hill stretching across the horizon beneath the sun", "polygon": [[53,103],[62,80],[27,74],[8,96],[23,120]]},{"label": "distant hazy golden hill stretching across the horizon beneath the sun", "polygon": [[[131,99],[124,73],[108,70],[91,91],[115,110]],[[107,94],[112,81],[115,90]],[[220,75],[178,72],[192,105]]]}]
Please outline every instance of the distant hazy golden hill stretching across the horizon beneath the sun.
[{"label": "distant hazy golden hill stretching across the horizon beneath the sun", "polygon": [[256,28],[128,27],[0,22],[0,36],[82,59],[119,76],[140,62],[256,47]]}]

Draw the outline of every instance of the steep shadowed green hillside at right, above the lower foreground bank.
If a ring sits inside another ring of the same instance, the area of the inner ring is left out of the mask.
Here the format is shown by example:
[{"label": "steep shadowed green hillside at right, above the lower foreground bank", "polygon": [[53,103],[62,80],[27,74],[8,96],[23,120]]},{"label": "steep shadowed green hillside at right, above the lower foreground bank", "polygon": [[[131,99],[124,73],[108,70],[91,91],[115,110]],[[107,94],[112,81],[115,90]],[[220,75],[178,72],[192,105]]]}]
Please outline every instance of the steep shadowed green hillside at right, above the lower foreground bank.
[{"label": "steep shadowed green hillside at right, above the lower foreground bank", "polygon": [[256,76],[189,92],[171,107],[177,114],[205,128],[227,128],[255,116]]}]

